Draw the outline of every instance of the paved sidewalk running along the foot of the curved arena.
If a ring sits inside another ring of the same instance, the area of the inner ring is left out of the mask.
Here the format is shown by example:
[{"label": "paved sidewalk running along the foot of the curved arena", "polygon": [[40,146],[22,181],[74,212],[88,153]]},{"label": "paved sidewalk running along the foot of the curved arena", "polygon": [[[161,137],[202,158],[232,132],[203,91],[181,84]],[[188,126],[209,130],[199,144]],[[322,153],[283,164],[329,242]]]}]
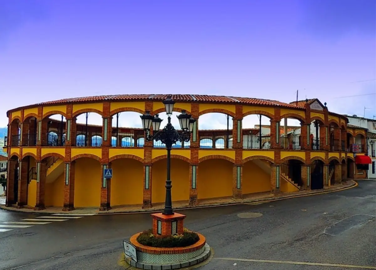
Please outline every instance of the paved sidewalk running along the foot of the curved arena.
[{"label": "paved sidewalk running along the foot of the curved arena", "polygon": [[[208,200],[199,200],[199,205],[190,206],[188,201],[176,201],[173,203],[174,209],[190,209],[190,208],[202,208],[202,207],[214,207],[221,205],[233,205],[233,204],[244,204],[244,203],[262,203],[266,201],[282,200],[286,198],[303,197],[308,195],[323,194],[329,192],[340,191],[343,189],[348,189],[355,187],[357,183],[353,180],[343,181],[341,184],[337,184],[330,187],[325,187],[324,189],[318,189],[314,191],[297,191],[290,193],[278,193],[273,194],[270,192],[257,193],[257,194],[247,194],[243,196],[243,199],[235,200],[231,197],[225,198],[215,198]],[[2,200],[4,201],[2,204]],[[29,208],[17,209],[16,207],[6,207],[5,197],[0,198],[0,208],[9,211],[20,211],[20,212],[32,212],[32,213],[49,213],[49,214],[117,214],[117,213],[143,213],[143,212],[157,212],[163,210],[163,203],[153,204],[153,207],[142,209],[140,205],[125,205],[125,206],[114,206],[108,211],[99,211],[98,208],[77,208],[73,211],[65,212],[61,211],[62,207],[47,207],[44,210],[34,211]]]}]

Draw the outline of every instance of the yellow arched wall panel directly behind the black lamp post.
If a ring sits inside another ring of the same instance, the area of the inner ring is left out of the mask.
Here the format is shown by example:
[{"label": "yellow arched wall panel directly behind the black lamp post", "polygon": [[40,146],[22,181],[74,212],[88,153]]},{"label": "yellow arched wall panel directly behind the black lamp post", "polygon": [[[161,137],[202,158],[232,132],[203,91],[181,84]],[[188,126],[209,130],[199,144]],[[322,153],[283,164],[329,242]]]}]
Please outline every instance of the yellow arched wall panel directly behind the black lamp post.
[{"label": "yellow arched wall panel directly behind the black lamp post", "polygon": [[[152,203],[162,203],[166,197],[167,160],[158,160],[152,167]],[[171,197],[173,201],[189,200],[189,164],[181,159],[171,159]]]}]

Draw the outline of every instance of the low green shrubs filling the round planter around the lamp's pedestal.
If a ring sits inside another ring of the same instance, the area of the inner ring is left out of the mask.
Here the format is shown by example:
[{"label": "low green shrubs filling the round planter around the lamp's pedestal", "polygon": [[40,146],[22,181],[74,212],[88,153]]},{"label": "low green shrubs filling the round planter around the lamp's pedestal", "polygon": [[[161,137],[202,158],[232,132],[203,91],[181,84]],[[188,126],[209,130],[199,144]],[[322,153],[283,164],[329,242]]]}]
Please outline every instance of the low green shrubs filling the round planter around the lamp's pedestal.
[{"label": "low green shrubs filling the round planter around the lamp's pedestal", "polygon": [[154,235],[153,230],[146,230],[137,236],[137,241],[149,247],[188,247],[199,241],[199,235],[184,228],[183,234],[161,236]]}]

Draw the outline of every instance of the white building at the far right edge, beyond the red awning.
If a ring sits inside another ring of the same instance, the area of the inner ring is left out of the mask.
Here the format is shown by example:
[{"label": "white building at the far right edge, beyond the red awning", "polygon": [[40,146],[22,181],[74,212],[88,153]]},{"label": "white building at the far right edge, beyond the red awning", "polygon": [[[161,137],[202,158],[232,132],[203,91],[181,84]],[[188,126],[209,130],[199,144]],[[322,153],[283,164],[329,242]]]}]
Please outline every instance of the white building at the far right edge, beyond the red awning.
[{"label": "white building at the far right edge, beyond the red awning", "polygon": [[367,128],[367,149],[368,156],[371,157],[372,163],[368,167],[368,178],[376,178],[376,119],[368,119],[356,115],[345,116],[349,119],[349,125]]}]

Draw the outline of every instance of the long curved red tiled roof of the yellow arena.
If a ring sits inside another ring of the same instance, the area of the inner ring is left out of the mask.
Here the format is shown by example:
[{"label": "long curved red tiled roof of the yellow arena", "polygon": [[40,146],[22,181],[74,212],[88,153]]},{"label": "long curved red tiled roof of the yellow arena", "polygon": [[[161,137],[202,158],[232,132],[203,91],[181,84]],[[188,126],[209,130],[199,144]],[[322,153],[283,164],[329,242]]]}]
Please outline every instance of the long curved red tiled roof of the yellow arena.
[{"label": "long curved red tiled roof of the yellow arena", "polygon": [[[109,95],[109,96],[87,96],[81,98],[66,98],[56,101],[41,102],[33,105],[23,106],[12,109],[20,110],[25,107],[36,107],[39,105],[58,105],[67,103],[85,103],[85,102],[102,102],[102,101],[163,101],[168,95]],[[257,99],[257,98],[240,98],[232,96],[212,96],[212,95],[171,95],[171,98],[176,102],[200,102],[200,103],[229,103],[229,104],[243,104],[243,105],[261,105],[261,106],[274,106],[286,108],[305,108],[305,106],[296,106],[296,104],[288,104],[276,100]]]}]

